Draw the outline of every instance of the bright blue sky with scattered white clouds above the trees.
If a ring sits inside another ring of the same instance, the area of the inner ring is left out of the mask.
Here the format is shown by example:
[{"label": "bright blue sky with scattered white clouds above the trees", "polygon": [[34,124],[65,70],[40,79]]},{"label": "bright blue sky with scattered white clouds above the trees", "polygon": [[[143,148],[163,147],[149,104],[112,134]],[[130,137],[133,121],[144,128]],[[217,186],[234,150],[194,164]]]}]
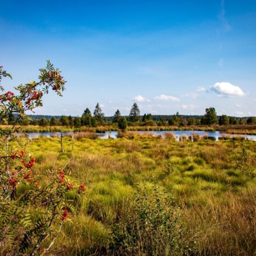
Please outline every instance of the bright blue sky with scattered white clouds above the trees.
[{"label": "bright blue sky with scattered white clouds above the trees", "polygon": [[0,48],[6,88],[62,70],[38,114],[256,115],[256,1],[1,1]]}]

